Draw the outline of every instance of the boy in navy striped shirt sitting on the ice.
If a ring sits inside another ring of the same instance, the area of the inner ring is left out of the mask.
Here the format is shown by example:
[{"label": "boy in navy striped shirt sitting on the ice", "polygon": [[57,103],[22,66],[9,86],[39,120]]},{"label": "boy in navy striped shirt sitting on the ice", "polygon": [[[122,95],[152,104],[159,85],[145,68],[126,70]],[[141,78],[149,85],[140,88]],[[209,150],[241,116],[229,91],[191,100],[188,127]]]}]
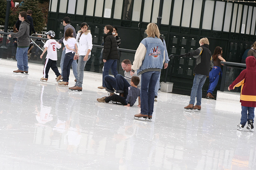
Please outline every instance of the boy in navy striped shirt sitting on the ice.
[{"label": "boy in navy striped shirt sitting on the ice", "polygon": [[137,98],[139,98],[138,106],[140,106],[140,89],[137,88],[139,83],[140,83],[140,78],[138,76],[132,76],[131,86],[128,87],[128,95],[126,97],[122,97],[117,94],[114,94],[112,96],[98,98],[97,101],[106,102],[106,103],[110,101],[116,101],[116,102],[120,102],[124,106],[130,107],[130,106],[133,106]]}]

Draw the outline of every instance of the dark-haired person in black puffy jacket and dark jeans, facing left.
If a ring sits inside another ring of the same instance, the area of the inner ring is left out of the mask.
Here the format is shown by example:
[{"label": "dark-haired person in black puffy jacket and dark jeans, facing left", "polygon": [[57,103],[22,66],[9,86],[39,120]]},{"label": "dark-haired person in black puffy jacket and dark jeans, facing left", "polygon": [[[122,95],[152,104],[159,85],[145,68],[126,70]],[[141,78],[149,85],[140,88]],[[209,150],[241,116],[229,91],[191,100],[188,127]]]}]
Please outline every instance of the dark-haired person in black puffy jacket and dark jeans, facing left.
[{"label": "dark-haired person in black puffy jacket and dark jeans, facing left", "polygon": [[103,48],[103,73],[102,73],[102,86],[99,86],[99,89],[106,89],[106,85],[104,83],[104,77],[108,75],[108,70],[111,68],[111,72],[116,78],[118,74],[116,70],[117,60],[119,59],[119,55],[117,52],[117,43],[116,38],[112,35],[113,27],[111,25],[106,25],[104,27],[104,48]]}]

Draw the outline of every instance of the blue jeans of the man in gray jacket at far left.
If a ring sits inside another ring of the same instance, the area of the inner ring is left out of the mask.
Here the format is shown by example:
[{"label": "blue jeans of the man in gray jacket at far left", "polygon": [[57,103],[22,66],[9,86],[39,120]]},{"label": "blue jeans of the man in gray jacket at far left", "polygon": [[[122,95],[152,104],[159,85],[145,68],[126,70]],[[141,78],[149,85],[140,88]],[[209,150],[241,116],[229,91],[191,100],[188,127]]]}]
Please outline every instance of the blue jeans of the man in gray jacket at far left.
[{"label": "blue jeans of the man in gray jacket at far left", "polygon": [[17,67],[19,70],[28,71],[28,47],[17,47],[16,52]]}]

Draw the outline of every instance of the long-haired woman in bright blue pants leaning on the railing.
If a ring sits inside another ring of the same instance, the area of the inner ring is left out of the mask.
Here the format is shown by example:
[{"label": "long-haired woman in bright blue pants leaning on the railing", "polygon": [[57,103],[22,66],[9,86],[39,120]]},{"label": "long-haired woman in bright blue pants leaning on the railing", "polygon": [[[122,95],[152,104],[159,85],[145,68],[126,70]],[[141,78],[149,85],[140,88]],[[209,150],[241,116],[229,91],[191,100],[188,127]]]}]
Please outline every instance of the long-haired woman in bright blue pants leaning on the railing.
[{"label": "long-haired woman in bright blue pants leaning on the railing", "polygon": [[212,92],[216,88],[219,78],[222,76],[222,70],[221,70],[220,66],[223,64],[220,64],[220,62],[221,61],[226,62],[226,60],[223,59],[223,57],[222,57],[222,48],[221,47],[217,46],[215,48],[214,53],[212,55],[212,61],[213,61],[213,68],[209,73],[210,84],[209,84],[209,88],[208,88],[207,94],[206,94],[207,99],[214,99],[214,97],[212,96]]}]

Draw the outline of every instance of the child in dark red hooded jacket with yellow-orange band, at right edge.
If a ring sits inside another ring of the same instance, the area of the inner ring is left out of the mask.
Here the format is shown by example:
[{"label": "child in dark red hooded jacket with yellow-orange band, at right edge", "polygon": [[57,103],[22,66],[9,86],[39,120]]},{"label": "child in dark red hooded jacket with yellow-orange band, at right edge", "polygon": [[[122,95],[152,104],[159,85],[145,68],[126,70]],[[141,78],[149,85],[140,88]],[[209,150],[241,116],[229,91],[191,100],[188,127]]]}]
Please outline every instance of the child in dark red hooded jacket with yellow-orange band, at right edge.
[{"label": "child in dark red hooded jacket with yellow-orange band, at right edge", "polygon": [[233,90],[239,86],[242,86],[240,94],[242,111],[241,121],[237,125],[237,130],[241,131],[246,125],[246,121],[248,121],[246,128],[253,132],[254,108],[256,107],[256,59],[253,56],[246,58],[246,69],[239,74],[236,80],[228,87],[228,90]]}]

